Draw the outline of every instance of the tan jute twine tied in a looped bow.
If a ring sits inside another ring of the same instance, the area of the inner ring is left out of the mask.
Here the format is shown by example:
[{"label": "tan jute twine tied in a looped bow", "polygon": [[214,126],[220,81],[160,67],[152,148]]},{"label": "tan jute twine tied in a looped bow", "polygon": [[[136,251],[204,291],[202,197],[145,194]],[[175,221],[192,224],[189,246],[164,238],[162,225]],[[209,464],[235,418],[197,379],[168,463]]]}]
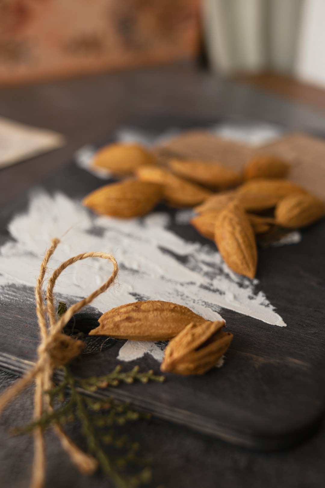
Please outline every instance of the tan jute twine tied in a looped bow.
[{"label": "tan jute twine tied in a looped bow", "polygon": [[[80,354],[84,343],[72,339],[61,333],[63,327],[69,320],[85,305],[90,304],[98,295],[107,290],[114,283],[118,272],[115,258],[105,252],[86,252],[68,259],[54,271],[48,281],[46,292],[46,306],[43,299],[44,277],[47,271],[48,262],[59,244],[59,239],[53,239],[52,245],[45,254],[39,270],[37,285],[35,288],[36,314],[40,332],[40,344],[38,346],[38,360],[36,365],[26,373],[21,379],[16,381],[0,396],[0,413],[4,407],[33,380],[35,381],[34,393],[34,420],[37,421],[44,411],[51,412],[53,409],[49,403],[48,395],[44,392],[49,390],[52,385],[53,371],[58,366],[67,364],[72,358]],[[88,297],[72,305],[57,320],[53,289],[57,278],[71,264],[87,258],[108,259],[114,265],[111,277],[97,290],[93,291]],[[69,454],[73,463],[84,474],[91,474],[97,468],[97,461],[94,457],[80,450],[67,436],[62,427],[58,424],[54,426],[54,431],[59,438],[63,449]],[[45,443],[41,427],[34,431],[34,462],[33,474],[30,487],[42,488],[45,482]]]}]

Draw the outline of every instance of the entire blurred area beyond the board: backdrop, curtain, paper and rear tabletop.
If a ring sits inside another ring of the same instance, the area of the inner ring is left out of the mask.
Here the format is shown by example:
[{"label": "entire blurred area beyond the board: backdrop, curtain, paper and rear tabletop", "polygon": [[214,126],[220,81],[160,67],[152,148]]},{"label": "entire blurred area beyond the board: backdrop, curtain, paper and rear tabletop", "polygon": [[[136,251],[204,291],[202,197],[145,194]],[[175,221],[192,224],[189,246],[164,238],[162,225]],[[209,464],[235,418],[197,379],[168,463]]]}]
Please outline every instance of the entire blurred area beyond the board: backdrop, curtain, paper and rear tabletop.
[{"label": "entire blurred area beyond the board: backdrop, curtain, paper and rear tabletop", "polygon": [[325,0],[0,0],[0,205],[135,119],[324,133],[324,26]]}]

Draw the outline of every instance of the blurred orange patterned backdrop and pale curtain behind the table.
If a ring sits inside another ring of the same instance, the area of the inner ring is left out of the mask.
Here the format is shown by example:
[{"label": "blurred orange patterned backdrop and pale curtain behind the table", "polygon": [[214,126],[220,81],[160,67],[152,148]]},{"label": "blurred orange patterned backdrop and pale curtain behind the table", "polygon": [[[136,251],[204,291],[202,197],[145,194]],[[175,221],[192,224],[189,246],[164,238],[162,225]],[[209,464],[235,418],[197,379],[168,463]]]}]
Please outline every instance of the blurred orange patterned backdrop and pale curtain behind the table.
[{"label": "blurred orange patterned backdrop and pale curtain behind the table", "polygon": [[0,0],[0,84],[198,60],[325,86],[324,25],[324,0]]}]

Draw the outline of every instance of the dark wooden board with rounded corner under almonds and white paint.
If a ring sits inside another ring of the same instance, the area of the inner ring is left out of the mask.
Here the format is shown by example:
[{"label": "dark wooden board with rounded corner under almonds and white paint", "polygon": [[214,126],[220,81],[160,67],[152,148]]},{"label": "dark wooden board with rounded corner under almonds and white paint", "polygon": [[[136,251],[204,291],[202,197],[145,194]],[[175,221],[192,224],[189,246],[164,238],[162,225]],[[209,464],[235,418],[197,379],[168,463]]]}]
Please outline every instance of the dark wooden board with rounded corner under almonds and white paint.
[{"label": "dark wooden board with rounded corner under almonds and white paint", "polygon": [[[154,119],[143,122],[141,128],[158,134],[181,124],[189,127],[200,122]],[[42,187],[50,193],[59,189],[81,199],[101,184],[95,176],[72,164]],[[1,212],[0,244],[11,238],[6,225],[26,208],[27,202],[26,195]],[[174,232],[213,246],[190,225],[183,225],[180,230],[174,221],[174,210],[164,205],[158,209],[169,212]],[[163,385],[120,386],[114,389],[115,396],[172,422],[247,447],[282,448],[308,436],[317,427],[325,407],[324,239],[323,222],[303,231],[299,244],[260,250],[258,286],[276,306],[287,327],[267,325],[222,310],[234,340],[221,369],[204,377],[167,375],[168,381]],[[3,296],[0,365],[22,372],[28,367],[25,360],[35,360],[38,344],[33,289],[10,286]],[[85,314],[77,320],[94,324],[98,312],[90,309]],[[104,374],[117,363],[117,350],[123,344],[124,341],[117,341],[100,353],[85,355],[76,365],[77,374]],[[150,356],[135,363],[158,372],[158,364]],[[124,368],[128,366],[123,364]],[[106,392],[111,393],[109,389]]]}]

